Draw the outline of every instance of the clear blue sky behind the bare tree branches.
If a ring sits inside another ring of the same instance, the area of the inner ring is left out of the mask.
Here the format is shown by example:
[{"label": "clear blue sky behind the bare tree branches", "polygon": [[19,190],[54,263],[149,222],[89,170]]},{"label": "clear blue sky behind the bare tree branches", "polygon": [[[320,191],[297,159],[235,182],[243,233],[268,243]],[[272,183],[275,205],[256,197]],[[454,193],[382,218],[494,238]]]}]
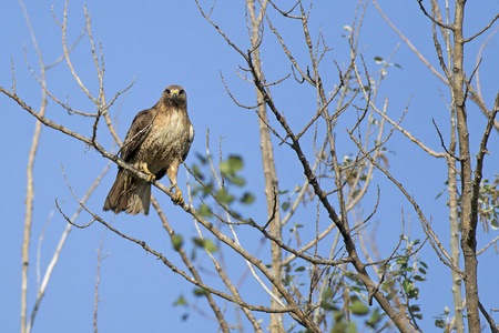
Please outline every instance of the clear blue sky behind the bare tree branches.
[{"label": "clear blue sky behind the bare tree branches", "polygon": [[[201,1],[205,8],[211,3]],[[431,24],[418,10],[417,1],[379,1],[386,14],[393,20],[413,44],[438,68],[437,58],[432,49]],[[68,41],[71,43],[84,28],[83,1],[70,1],[68,11]],[[27,1],[26,7],[34,29],[38,44],[41,49],[45,64],[52,63],[62,54],[61,29],[52,18],[52,3],[48,1]],[[235,73],[237,65],[243,64],[241,57],[216,33],[216,31],[201,17],[194,1],[124,1],[120,6],[110,1],[88,1],[86,9],[92,18],[92,33],[95,42],[102,42],[105,61],[105,92],[108,100],[118,91],[126,88],[134,79],[130,91],[124,93],[112,108],[112,117],[118,120],[118,132],[123,139],[136,112],[152,107],[160,98],[163,89],[169,84],[182,84],[189,95],[189,112],[196,131],[195,141],[191,148],[187,164],[197,162],[196,153],[204,154],[206,147],[206,130],[210,129],[211,149],[214,155],[218,154],[218,141],[222,140],[223,155],[240,154],[245,160],[243,176],[247,186],[256,195],[252,206],[252,218],[265,219],[265,198],[261,170],[261,153],[258,143],[257,119],[253,111],[237,108],[225,92],[221,73],[242,103],[254,103],[254,89]],[[471,36],[482,28],[499,10],[499,1],[470,2],[467,7],[466,29]],[[63,4],[57,3],[53,12],[62,21]],[[310,30],[317,36],[320,28],[326,42],[334,48],[328,54],[324,65],[326,89],[333,90],[336,81],[336,67],[348,58],[347,41],[342,34],[344,26],[350,26],[355,11],[355,1],[322,1],[313,7],[310,14]],[[244,17],[244,2],[220,0],[213,11],[213,20],[227,32],[241,49],[249,46]],[[306,61],[304,42],[299,26],[279,19],[273,12],[276,27],[283,36],[298,61]],[[11,59],[14,64],[16,84],[18,94],[31,107],[40,107],[41,89],[31,75],[24,62],[23,46],[26,44],[27,60],[34,71],[39,71],[39,62],[32,46],[22,8],[17,1],[3,3],[0,12],[0,85],[12,85]],[[263,43],[263,69],[267,80],[278,80],[289,73],[289,63],[282,53],[275,37],[269,29],[265,30]],[[476,54],[485,38],[480,37],[469,44],[466,56],[466,68],[470,71],[476,63]],[[373,4],[368,4],[367,14],[359,40],[366,65],[371,72],[379,69],[374,57],[387,58],[397,44],[399,48],[391,62],[400,64],[390,68],[387,79],[378,93],[378,104],[383,105],[385,97],[389,100],[388,114],[398,119],[406,108],[409,99],[409,111],[403,125],[416,138],[421,139],[435,151],[441,151],[440,142],[435,132],[431,119],[439,125],[444,138],[448,140],[449,121],[446,101],[449,93],[446,87],[432,75],[417,59],[417,57],[400,41],[398,36],[380,19]],[[497,37],[493,37],[483,51],[480,82],[482,94],[490,108],[497,93],[497,64],[495,54],[498,54]],[[90,52],[86,36],[71,53],[82,81],[96,93],[99,85],[95,67]],[[49,90],[78,110],[94,112],[94,105],[79,89],[72,79],[68,65],[62,62],[47,72]],[[314,112],[315,92],[309,87],[293,84],[292,79],[282,87],[273,90],[274,97],[279,101],[292,127],[297,130],[307,122],[307,112]],[[469,103],[470,142],[473,153],[485,128],[485,117]],[[6,332],[16,332],[20,324],[20,276],[21,276],[21,244],[24,219],[26,199],[26,164],[34,129],[34,119],[21,110],[7,97],[0,97],[0,110],[4,121],[0,123],[0,153],[4,157],[1,171],[7,176],[0,180],[0,202],[3,222],[0,224],[0,253],[2,253],[3,274],[0,287],[0,326]],[[68,128],[90,135],[92,120],[82,119],[68,113],[53,101],[49,101],[47,117]],[[275,124],[275,122],[273,122]],[[353,152],[353,144],[348,142],[344,128],[348,121],[339,122],[338,154]],[[222,138],[222,139],[221,139]],[[305,138],[308,151],[312,150],[312,135]],[[112,139],[101,130],[100,142],[108,149],[112,148]],[[485,178],[491,179],[498,172],[499,144],[497,132],[492,132],[487,157],[488,167]],[[445,195],[435,200],[445,188],[447,170],[445,161],[427,157],[421,150],[415,148],[407,139],[395,133],[387,148],[396,154],[389,155],[390,171],[406,185],[409,192],[418,200],[425,214],[431,216],[437,234],[441,235],[448,244],[448,211]],[[281,178],[282,190],[292,190],[295,184],[303,183],[303,173],[294,154],[285,145],[276,145],[277,172]],[[54,212],[54,200],[62,202],[63,210],[71,215],[77,204],[71,196],[61,172],[61,165],[75,191],[82,196],[93,179],[102,172],[108,161],[94,150],[89,151],[84,144],[75,140],[68,140],[60,132],[43,128],[40,148],[34,165],[34,222],[32,228],[32,244],[30,266],[29,310],[32,309],[37,285],[37,248],[39,236],[43,233],[40,250],[40,268],[44,272],[51,254],[53,253],[65,222],[58,212]],[[103,179],[100,188],[92,194],[88,205],[100,212],[103,200],[115,176],[115,167]],[[179,182],[181,189],[186,189],[186,173],[181,169]],[[191,179],[192,181],[192,179]],[[166,183],[165,181],[163,183]],[[379,183],[381,190],[381,204],[376,215],[377,240],[381,255],[390,253],[397,243],[400,233],[400,209],[410,219],[413,238],[421,238],[420,226],[416,214],[407,202],[401,199],[396,189],[386,183],[385,178],[377,173],[374,184]],[[373,188],[374,189],[374,188]],[[153,189],[154,194],[159,194]],[[373,209],[375,190],[369,192],[363,201],[361,209],[365,215]],[[170,223],[186,240],[195,236],[196,231],[192,218],[180,208],[174,206],[165,195],[157,195]],[[410,216],[408,215],[410,214]],[[150,216],[128,216],[102,214],[108,221],[122,232],[136,239],[146,241],[154,249],[165,254],[169,260],[180,263],[173,251],[161,221],[154,213]],[[298,215],[297,223],[306,221],[307,215]],[[314,216],[313,219],[314,220]],[[88,223],[89,216],[82,214],[77,221]],[[326,225],[324,218],[324,225]],[[320,221],[323,222],[323,220]],[[313,222],[310,222],[313,223]],[[371,226],[369,226],[371,228]],[[63,249],[60,262],[55,268],[47,295],[43,299],[37,316],[33,332],[89,332],[92,330],[93,296],[96,270],[96,249],[100,245],[104,228],[93,224],[83,230],[73,229]],[[242,231],[243,232],[243,231]],[[483,234],[479,230],[479,245],[481,249],[497,231]],[[246,235],[242,238],[252,251],[257,251],[261,238]],[[268,242],[264,242],[262,259],[267,258]],[[203,299],[192,295],[192,286],[181,276],[173,274],[152,255],[146,254],[138,245],[108,232],[104,236],[103,253],[110,253],[101,264],[102,301],[99,304],[99,327],[101,332],[165,332],[165,331],[216,331],[216,322],[211,317]],[[244,263],[235,255],[225,254],[227,270],[234,281],[241,278]],[[450,272],[441,265],[429,246],[426,246],[421,256],[430,265],[428,282],[421,285],[419,303],[424,307],[422,327],[428,332],[432,327],[432,316],[441,313],[444,306],[451,307]],[[213,272],[208,258],[200,254],[196,259],[206,269],[206,275]],[[498,258],[493,252],[483,254],[479,259],[479,289],[483,305],[497,307],[497,283],[492,280]],[[183,266],[182,266],[183,268]],[[207,278],[210,281],[210,278]],[[215,280],[214,280],[215,281]],[[223,287],[218,282],[215,286]],[[441,292],[447,289],[446,292]],[[243,280],[241,291],[248,302],[258,302],[267,296],[262,290],[246,278]],[[434,297],[436,292],[438,297]],[[200,311],[192,312],[186,321],[182,315],[190,310],[173,307],[174,301],[185,295],[189,302]],[[496,303],[495,303],[496,302]],[[223,305],[223,302],[220,302]],[[428,307],[425,307],[428,306]],[[228,306],[231,307],[231,305]],[[208,313],[204,315],[201,311]],[[210,319],[207,319],[208,316]],[[233,316],[228,317],[234,321]],[[497,319],[496,319],[497,320]],[[265,321],[266,317],[265,317]],[[268,322],[265,322],[266,327]],[[247,326],[248,327],[248,326]]]}]

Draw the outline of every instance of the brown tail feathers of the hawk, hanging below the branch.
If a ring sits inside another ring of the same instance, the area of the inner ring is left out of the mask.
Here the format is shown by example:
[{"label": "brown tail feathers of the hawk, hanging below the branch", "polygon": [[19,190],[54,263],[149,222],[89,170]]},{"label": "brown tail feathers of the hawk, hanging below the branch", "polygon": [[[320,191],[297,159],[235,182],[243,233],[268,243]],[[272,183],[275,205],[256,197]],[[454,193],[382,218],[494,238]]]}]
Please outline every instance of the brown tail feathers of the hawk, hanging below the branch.
[{"label": "brown tail feathers of the hawk, hanging below the branch", "polygon": [[104,211],[115,214],[126,212],[136,215],[149,214],[151,202],[151,184],[133,176],[126,170],[120,170],[113,186],[104,202]]}]

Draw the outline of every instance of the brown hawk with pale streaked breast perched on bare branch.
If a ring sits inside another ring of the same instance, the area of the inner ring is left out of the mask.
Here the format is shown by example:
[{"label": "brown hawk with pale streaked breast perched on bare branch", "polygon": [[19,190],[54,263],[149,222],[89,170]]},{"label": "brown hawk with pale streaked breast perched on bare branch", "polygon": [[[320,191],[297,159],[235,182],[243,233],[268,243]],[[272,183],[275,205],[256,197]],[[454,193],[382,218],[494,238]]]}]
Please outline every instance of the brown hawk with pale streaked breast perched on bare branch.
[{"label": "brown hawk with pale streaked breast perched on bare branch", "polygon": [[151,182],[167,174],[175,188],[175,204],[183,204],[176,184],[180,164],[187,157],[194,128],[189,120],[187,95],[180,85],[170,85],[151,109],[139,112],[132,121],[121,149],[121,159],[150,175],[144,181],[119,168],[116,180],[109,191],[104,211],[115,214],[149,214]]}]

